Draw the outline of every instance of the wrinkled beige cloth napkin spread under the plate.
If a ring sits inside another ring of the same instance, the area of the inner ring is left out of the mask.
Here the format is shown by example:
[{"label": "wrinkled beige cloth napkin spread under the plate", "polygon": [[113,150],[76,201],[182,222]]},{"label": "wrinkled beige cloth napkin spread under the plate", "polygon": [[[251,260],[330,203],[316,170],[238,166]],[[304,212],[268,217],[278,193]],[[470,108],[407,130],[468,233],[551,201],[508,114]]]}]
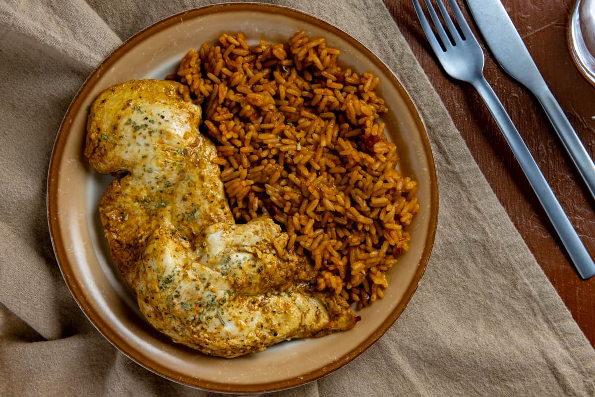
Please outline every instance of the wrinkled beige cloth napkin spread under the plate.
[{"label": "wrinkled beige cloth napkin spread under the plate", "polygon": [[[209,395],[143,369],[93,329],[62,280],[45,214],[52,144],[83,80],[121,40],[206,3],[0,2],[1,396]],[[278,4],[337,24],[393,68],[427,123],[440,182],[436,245],[403,315],[346,367],[279,395],[594,396],[593,348],[381,1]]]}]

